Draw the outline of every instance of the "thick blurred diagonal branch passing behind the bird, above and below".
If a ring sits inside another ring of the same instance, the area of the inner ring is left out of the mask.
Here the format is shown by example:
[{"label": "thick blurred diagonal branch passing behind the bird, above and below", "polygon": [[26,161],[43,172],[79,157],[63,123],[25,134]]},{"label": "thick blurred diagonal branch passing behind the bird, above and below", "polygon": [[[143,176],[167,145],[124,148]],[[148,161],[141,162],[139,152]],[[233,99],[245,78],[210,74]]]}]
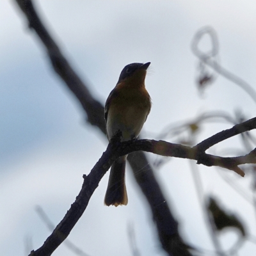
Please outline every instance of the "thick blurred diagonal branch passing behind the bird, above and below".
[{"label": "thick blurred diagonal branch passing behind the bird, above and below", "polygon": [[[49,35],[47,29],[45,29],[44,25],[42,24],[40,18],[38,17],[38,14],[35,11],[32,1],[31,0],[15,0],[15,1],[17,2],[17,4],[19,4],[20,9],[28,19],[29,28],[33,29],[36,32],[36,34],[39,36],[39,38],[42,40],[42,43],[44,44],[45,49],[49,54],[52,67],[54,68],[56,73],[60,76],[60,78],[67,84],[68,88],[72,91],[72,93],[74,93],[74,95],[77,97],[84,111],[86,111],[86,114],[88,116],[88,122],[90,122],[90,124],[92,125],[99,127],[100,131],[102,131],[105,134],[104,107],[102,106],[102,104],[100,104],[99,101],[95,100],[92,97],[92,94],[90,93],[88,88],[86,88],[86,84],[84,84],[81,81],[81,79],[77,76],[76,72],[72,69],[72,67],[70,67],[68,61],[61,53],[60,48],[54,42],[51,35]],[[138,184],[141,190],[143,191],[145,197],[148,200],[148,204],[150,204],[152,215],[153,215],[154,221],[156,222],[157,230],[160,236],[160,241],[164,250],[166,250],[166,252],[169,255],[173,255],[173,256],[181,255],[180,250],[182,250],[182,253],[183,253],[182,255],[191,255],[190,253],[188,253],[186,248],[184,250],[183,249],[178,250],[177,248],[176,248],[177,250],[176,249],[173,250],[173,248],[175,248],[173,244],[177,244],[176,247],[179,246],[180,244],[183,244],[182,239],[178,233],[178,223],[173,218],[173,214],[170,211],[170,207],[166,203],[166,200],[161,191],[161,188],[157,183],[156,178],[154,177],[152,166],[148,164],[148,160],[145,154],[143,154],[143,152],[136,152],[136,157],[129,157],[129,163],[132,166],[132,171],[134,173],[136,180],[138,181]],[[141,165],[147,166],[147,172],[143,173],[143,179],[141,179],[141,176],[140,177],[136,176],[138,173],[137,168],[139,168],[139,166]],[[85,180],[84,180],[84,186],[83,186],[84,190],[87,184],[86,182],[88,182]],[[154,196],[152,196],[152,188],[154,188]],[[164,205],[164,207],[159,207],[159,205],[162,205],[162,204]],[[76,208],[76,205],[77,205],[76,202],[74,203],[74,205],[75,205],[74,207]],[[52,236],[51,239],[47,239],[47,241],[52,241],[53,243],[52,246],[56,247],[58,246],[56,245],[57,243],[56,241],[59,241],[60,238],[56,236],[56,233],[54,234],[55,236]],[[61,239],[65,239],[65,237],[68,235],[68,232],[64,232],[64,234],[65,236]],[[173,237],[175,238],[174,239],[175,243],[172,243]],[[182,246],[182,248],[184,247],[185,246]],[[174,252],[175,250],[177,253]],[[50,255],[50,254],[36,254],[36,255]]]}]

